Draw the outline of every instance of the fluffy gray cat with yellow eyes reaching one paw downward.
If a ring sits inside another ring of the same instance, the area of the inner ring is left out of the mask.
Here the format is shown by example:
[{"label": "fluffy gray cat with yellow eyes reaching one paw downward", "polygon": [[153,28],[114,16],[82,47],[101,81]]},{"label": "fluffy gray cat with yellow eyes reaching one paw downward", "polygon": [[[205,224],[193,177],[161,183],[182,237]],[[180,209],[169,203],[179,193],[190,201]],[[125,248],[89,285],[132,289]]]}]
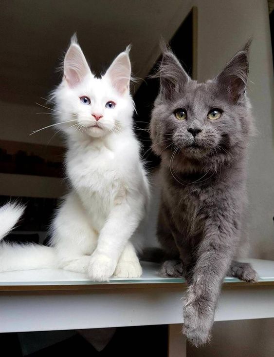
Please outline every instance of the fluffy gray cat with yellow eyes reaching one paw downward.
[{"label": "fluffy gray cat with yellow eyes reaching one paw downward", "polygon": [[162,274],[187,279],[183,332],[196,346],[210,337],[223,278],[257,278],[250,264],[234,260],[253,130],[245,94],[248,48],[205,83],[190,79],[167,47],[160,65],[150,131],[153,151],[162,158],[157,234],[171,259]]}]

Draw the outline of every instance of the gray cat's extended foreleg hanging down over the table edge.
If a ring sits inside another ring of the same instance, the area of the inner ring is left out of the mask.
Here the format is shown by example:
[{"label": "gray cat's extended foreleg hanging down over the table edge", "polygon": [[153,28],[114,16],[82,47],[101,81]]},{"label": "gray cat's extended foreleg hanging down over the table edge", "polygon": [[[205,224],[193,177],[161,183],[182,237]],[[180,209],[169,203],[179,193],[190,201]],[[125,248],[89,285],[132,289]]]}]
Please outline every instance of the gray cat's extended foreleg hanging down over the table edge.
[{"label": "gray cat's extended foreleg hanging down over the table edge", "polygon": [[195,346],[210,339],[221,284],[232,261],[238,232],[226,212],[213,210],[196,253],[191,284],[184,301],[183,332]]}]

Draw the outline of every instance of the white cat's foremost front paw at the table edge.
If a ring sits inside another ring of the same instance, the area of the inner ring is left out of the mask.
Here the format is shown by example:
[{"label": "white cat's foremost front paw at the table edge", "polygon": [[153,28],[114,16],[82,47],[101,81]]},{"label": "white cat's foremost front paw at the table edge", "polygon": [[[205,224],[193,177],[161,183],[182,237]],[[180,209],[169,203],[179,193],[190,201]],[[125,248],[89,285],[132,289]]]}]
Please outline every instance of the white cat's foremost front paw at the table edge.
[{"label": "white cat's foremost front paw at the table edge", "polygon": [[93,254],[88,274],[93,281],[108,281],[113,275],[116,262],[103,254]]}]

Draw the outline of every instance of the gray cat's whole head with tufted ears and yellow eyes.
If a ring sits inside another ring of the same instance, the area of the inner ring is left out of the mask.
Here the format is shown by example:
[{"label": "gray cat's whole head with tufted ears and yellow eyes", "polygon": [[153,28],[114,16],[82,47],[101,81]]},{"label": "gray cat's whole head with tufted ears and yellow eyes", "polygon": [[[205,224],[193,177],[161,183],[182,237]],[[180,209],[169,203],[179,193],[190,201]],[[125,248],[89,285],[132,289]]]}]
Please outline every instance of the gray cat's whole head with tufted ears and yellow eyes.
[{"label": "gray cat's whole head with tufted ears and yellow eyes", "polygon": [[176,151],[187,159],[229,159],[235,148],[244,146],[251,125],[245,96],[247,75],[246,51],[205,83],[191,80],[174,54],[165,51],[161,90],[151,119],[156,154]]}]

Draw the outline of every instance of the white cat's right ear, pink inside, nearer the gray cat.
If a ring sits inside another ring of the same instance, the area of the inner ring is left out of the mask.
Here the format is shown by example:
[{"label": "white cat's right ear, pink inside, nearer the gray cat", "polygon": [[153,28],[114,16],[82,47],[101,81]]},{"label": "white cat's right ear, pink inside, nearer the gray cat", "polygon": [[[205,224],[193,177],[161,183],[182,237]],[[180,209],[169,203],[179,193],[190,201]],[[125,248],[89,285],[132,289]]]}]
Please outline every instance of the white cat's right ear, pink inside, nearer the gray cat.
[{"label": "white cat's right ear, pink inside, nearer the gray cat", "polygon": [[104,77],[110,79],[110,83],[120,94],[129,92],[131,64],[129,60],[129,46],[125,52],[120,53],[111,63]]}]

